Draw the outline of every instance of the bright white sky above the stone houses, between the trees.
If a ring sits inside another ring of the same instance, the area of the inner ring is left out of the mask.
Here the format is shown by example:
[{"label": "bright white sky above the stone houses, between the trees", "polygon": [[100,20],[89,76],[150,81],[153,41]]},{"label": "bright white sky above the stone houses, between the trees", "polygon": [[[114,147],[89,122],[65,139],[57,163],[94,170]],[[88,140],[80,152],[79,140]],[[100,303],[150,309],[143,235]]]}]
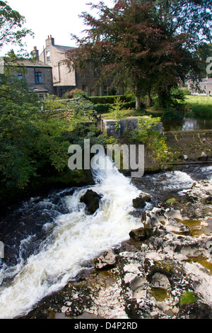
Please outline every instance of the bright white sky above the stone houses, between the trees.
[{"label": "bright white sky above the stone houses, between the trees", "polygon": [[[88,11],[95,15],[95,11],[86,5],[89,2],[98,4],[98,0],[7,0],[12,9],[25,16],[25,28],[33,30],[35,38],[27,37],[23,41],[26,43],[25,50],[31,52],[34,46],[42,52],[45,47],[45,40],[48,35],[52,35],[56,45],[75,46],[70,34],[81,36],[81,32],[86,28],[83,19],[79,18],[83,11]],[[113,6],[113,0],[103,0],[107,6]],[[4,55],[8,50],[16,47],[8,45],[1,50]]]}]

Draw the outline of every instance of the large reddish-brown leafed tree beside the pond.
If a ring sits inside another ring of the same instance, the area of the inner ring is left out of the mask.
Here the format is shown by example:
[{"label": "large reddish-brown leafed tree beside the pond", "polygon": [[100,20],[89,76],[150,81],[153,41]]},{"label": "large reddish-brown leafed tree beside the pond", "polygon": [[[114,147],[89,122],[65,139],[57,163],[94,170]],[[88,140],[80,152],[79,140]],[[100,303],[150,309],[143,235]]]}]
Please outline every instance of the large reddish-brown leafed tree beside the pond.
[{"label": "large reddish-brown leafed tree beside the pond", "polygon": [[[211,38],[211,9],[207,0],[117,0],[112,9],[90,4],[99,17],[82,13],[85,38],[72,36],[78,47],[67,52],[67,64],[83,72],[93,63],[99,79],[110,77],[140,97],[151,91],[165,106],[172,87],[199,73],[196,47]],[[193,9],[193,11],[192,11]]]}]

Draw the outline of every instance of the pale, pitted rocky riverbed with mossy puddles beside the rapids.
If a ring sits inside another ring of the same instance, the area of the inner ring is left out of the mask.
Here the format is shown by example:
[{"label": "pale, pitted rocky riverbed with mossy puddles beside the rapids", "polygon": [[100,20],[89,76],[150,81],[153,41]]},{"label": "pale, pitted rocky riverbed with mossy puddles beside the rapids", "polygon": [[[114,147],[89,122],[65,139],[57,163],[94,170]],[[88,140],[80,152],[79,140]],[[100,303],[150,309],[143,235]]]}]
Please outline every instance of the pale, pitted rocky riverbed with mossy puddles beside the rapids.
[{"label": "pale, pitted rocky riverbed with mossy puddles beside the rapids", "polygon": [[211,318],[212,182],[196,181],[141,220],[25,318]]}]

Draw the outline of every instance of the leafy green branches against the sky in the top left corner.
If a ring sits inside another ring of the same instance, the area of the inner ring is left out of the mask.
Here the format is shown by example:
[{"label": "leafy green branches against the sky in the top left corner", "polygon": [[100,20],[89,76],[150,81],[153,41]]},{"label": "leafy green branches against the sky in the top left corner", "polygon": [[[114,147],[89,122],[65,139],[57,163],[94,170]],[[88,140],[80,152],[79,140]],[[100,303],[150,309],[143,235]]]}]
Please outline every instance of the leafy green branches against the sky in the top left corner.
[{"label": "leafy green branches against the sky in the top left corner", "polygon": [[24,23],[24,16],[11,9],[6,1],[0,1],[0,49],[7,44],[23,46],[23,38],[33,35],[31,30],[22,28]]}]

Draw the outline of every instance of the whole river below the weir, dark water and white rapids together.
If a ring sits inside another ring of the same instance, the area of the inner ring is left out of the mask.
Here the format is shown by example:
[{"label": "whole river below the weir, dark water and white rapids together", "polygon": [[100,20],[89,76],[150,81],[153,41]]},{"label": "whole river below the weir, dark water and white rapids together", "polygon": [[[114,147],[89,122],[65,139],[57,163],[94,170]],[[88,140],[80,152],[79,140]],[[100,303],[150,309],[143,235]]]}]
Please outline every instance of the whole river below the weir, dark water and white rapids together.
[{"label": "whole river below the weir, dark water and white rapids together", "polygon": [[[1,319],[25,315],[81,269],[92,266],[95,256],[128,239],[129,231],[141,226],[132,206],[141,191],[152,198],[143,209],[153,208],[167,193],[183,195],[194,180],[212,179],[212,166],[145,175],[136,181],[117,169],[97,170],[93,177],[93,186],[30,198],[1,218]],[[80,202],[88,188],[102,196],[94,215],[87,215]]]}]

